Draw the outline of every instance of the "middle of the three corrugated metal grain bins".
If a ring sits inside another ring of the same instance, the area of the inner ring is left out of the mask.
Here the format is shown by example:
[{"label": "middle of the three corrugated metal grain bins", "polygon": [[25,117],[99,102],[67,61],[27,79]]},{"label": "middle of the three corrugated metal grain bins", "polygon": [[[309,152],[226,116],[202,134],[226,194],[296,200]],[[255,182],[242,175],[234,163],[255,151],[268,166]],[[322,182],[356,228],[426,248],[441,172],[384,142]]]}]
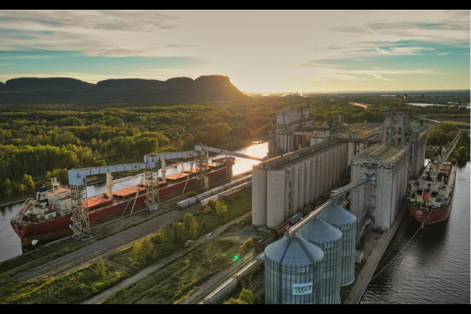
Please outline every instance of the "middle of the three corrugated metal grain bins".
[{"label": "middle of the three corrugated metal grain bins", "polygon": [[339,304],[342,233],[325,221],[314,218],[298,231],[298,235],[324,251],[322,304]]}]

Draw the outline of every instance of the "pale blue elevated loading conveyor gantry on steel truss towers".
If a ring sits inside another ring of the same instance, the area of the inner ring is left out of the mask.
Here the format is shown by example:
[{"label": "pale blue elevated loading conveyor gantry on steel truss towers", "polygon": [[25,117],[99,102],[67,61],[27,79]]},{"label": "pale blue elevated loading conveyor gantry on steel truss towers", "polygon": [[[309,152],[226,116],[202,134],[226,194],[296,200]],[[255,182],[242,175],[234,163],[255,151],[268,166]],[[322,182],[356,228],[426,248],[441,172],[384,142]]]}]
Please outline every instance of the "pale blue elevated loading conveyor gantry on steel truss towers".
[{"label": "pale blue elevated loading conveyor gantry on steel truss towers", "polygon": [[[173,152],[173,153],[160,153],[144,156],[143,162],[126,163],[112,166],[90,167],[82,169],[69,170],[69,185],[72,198],[72,223],[70,228],[74,232],[74,237],[83,238],[90,236],[90,220],[88,217],[88,197],[87,197],[87,176],[94,176],[99,174],[106,174],[108,181],[111,180],[111,173],[121,171],[140,171],[143,170],[142,180],[145,180],[146,186],[146,204],[148,209],[157,209],[159,203],[158,197],[158,166],[160,160],[160,168],[162,175],[165,176],[166,159],[185,159],[195,158],[196,160],[196,183],[197,188],[200,190],[207,189],[208,185],[208,164],[209,153],[223,154],[233,157],[241,157],[263,161],[262,158],[252,157],[240,153],[222,150],[218,148],[208,147],[206,145],[198,144],[193,151],[188,152]],[[109,194],[111,191],[111,183],[107,183]],[[112,197],[112,192],[111,196]]]}]

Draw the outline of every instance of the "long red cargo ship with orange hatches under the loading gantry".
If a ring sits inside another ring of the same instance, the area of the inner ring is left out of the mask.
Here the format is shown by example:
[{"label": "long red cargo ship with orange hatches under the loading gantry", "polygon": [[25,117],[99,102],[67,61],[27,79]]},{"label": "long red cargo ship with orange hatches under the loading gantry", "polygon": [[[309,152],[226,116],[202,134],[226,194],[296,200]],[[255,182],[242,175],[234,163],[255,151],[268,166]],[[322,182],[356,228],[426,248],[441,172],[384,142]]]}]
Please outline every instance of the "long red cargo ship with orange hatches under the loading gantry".
[{"label": "long red cargo ship with orange hatches under the loading gantry", "polygon": [[[230,179],[234,163],[234,157],[213,159],[208,166],[209,182]],[[166,180],[159,180],[158,185],[160,202],[193,191],[196,189],[195,169],[167,175]],[[144,184],[113,191],[112,194],[112,198],[103,193],[87,200],[91,227],[129,214],[132,208],[133,212],[147,209]],[[70,189],[61,187],[52,179],[50,189],[42,185],[36,198],[25,202],[11,220],[11,225],[20,236],[22,246],[69,236],[73,234],[70,228],[71,207]]]}]

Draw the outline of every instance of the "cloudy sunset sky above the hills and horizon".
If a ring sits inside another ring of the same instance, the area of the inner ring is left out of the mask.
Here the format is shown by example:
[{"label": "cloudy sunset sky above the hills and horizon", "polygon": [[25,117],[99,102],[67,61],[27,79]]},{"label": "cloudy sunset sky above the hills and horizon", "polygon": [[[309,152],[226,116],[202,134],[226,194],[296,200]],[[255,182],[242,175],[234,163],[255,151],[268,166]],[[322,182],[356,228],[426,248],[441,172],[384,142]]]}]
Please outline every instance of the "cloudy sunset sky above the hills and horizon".
[{"label": "cloudy sunset sky above the hills and horizon", "polygon": [[197,78],[242,91],[470,89],[470,11],[0,11],[0,81]]}]

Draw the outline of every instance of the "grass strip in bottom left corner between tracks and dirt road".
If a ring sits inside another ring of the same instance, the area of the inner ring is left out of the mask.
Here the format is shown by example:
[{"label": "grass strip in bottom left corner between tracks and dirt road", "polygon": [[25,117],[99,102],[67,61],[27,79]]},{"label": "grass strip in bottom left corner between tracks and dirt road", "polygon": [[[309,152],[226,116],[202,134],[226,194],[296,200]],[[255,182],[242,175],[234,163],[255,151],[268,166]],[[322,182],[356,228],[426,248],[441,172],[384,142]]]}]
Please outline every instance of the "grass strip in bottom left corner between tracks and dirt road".
[{"label": "grass strip in bottom left corner between tracks and dirt road", "polygon": [[0,304],[78,304],[129,277],[107,266],[106,279],[97,280],[96,264],[61,277],[28,280],[0,288]]}]

